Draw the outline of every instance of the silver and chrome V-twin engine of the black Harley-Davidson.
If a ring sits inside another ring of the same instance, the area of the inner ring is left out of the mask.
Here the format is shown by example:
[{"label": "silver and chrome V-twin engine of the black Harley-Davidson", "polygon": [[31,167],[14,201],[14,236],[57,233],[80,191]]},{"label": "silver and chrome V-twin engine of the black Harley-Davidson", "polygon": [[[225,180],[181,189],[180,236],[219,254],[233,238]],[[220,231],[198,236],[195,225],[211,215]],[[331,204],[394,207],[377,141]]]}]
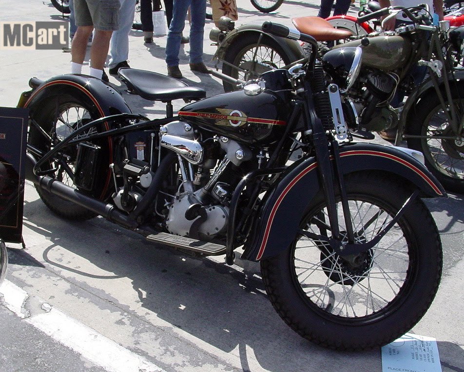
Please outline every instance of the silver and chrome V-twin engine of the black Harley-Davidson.
[{"label": "silver and chrome V-twin engine of the black Harley-Davidson", "polygon": [[124,141],[125,160],[112,165],[112,198],[118,209],[136,210],[154,182],[159,151],[168,149],[177,157],[176,175],[171,188],[161,188],[153,202],[158,225],[171,234],[204,241],[226,233],[236,181],[228,182],[230,172],[224,170],[250,160],[251,149],[224,136],[202,141],[190,124],[180,121],[162,126],[159,133],[131,133]]}]

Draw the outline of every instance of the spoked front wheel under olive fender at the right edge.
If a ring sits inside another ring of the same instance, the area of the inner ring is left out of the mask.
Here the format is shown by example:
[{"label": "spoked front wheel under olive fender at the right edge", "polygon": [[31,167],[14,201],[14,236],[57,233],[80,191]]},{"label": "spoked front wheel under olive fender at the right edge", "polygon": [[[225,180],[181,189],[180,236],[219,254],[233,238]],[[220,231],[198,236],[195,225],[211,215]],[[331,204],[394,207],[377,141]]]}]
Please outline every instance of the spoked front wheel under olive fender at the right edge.
[{"label": "spoked front wheel under olive fender at the right edge", "polygon": [[[451,87],[458,123],[464,118],[464,98],[460,89],[462,85]],[[426,167],[445,189],[464,193],[464,133],[453,132],[436,94],[421,99],[411,116],[407,133],[421,138],[407,138],[407,147],[424,154]]]}]

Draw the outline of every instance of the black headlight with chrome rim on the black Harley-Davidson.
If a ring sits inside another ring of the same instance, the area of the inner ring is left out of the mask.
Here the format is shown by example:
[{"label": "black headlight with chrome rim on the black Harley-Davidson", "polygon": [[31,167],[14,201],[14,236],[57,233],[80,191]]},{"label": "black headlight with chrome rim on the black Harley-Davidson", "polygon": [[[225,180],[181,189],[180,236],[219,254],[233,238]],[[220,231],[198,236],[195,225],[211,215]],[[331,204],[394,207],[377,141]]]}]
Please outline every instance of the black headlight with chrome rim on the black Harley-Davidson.
[{"label": "black headlight with chrome rim on the black Harley-Davidson", "polygon": [[322,57],[324,70],[333,81],[346,92],[361,71],[363,50],[360,47],[332,49]]}]

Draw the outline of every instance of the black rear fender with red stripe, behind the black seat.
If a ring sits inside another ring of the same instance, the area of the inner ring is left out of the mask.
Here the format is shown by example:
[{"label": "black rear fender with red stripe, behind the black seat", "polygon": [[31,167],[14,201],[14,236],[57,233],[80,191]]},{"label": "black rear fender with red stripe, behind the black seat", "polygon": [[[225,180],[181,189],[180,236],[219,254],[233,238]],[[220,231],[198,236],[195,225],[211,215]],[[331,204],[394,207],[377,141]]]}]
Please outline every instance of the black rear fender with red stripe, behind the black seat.
[{"label": "black rear fender with red stripe, behind the black seat", "polygon": [[54,76],[39,85],[24,104],[31,111],[40,109],[40,103],[53,95],[84,94],[97,108],[101,116],[131,113],[124,98],[110,85],[87,75],[65,74]]}]

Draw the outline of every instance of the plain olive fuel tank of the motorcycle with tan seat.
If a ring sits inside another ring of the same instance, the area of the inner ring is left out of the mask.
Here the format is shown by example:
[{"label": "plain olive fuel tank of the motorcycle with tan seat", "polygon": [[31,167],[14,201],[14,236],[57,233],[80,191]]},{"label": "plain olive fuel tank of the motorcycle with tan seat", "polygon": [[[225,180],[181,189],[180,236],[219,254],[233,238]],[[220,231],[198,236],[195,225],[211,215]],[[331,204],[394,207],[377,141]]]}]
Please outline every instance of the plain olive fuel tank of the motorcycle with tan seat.
[{"label": "plain olive fuel tank of the motorcycle with tan seat", "polygon": [[403,67],[412,52],[411,41],[400,35],[379,35],[364,39],[369,41],[368,45],[362,45],[363,39],[357,39],[339,44],[332,49],[359,46],[363,49],[363,66],[385,72]]}]

